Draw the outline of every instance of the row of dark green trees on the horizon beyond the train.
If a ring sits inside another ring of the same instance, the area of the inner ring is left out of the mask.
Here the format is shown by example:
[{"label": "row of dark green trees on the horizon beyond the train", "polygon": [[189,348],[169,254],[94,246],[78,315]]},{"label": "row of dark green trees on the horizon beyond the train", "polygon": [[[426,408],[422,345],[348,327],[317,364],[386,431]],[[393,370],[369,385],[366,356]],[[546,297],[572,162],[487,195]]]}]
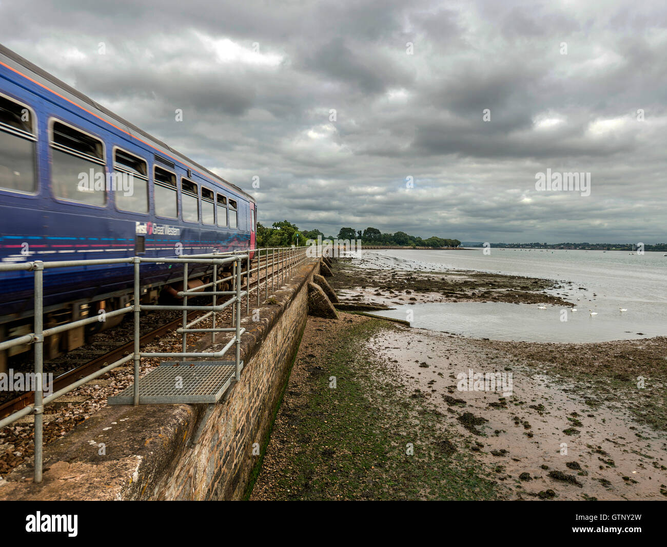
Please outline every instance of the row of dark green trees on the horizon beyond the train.
[{"label": "row of dark green trees on the horizon beyond the train", "polygon": [[431,236],[422,239],[419,236],[411,236],[406,232],[394,232],[393,234],[382,233],[378,228],[368,227],[366,230],[357,230],[356,228],[344,227],[338,232],[338,236],[325,236],[320,230],[299,230],[296,224],[283,220],[282,222],[273,222],[270,228],[257,222],[257,247],[285,247],[285,246],[305,246],[309,239],[317,240],[321,236],[325,239],[338,240],[362,240],[362,246],[365,245],[386,245],[386,246],[412,246],[412,247],[458,247],[461,242],[458,239],[440,238]]}]

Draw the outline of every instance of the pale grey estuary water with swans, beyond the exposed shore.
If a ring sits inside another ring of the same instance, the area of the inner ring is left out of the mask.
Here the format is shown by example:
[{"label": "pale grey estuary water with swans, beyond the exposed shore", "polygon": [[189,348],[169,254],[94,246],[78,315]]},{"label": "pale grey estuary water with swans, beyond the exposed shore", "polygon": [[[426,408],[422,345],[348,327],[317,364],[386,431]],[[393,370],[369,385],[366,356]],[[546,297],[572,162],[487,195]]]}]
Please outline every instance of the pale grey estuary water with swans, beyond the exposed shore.
[{"label": "pale grey estuary water with swans, beyond the exposed shore", "polygon": [[[480,270],[558,281],[558,294],[576,305],[422,303],[376,313],[414,327],[493,340],[596,342],[667,336],[667,256],[664,252],[481,248],[366,250],[366,267],[416,271]],[[624,309],[626,311],[620,311]],[[564,313],[567,321],[563,321]],[[590,311],[589,311],[590,310]],[[594,315],[590,315],[593,313]]]}]

